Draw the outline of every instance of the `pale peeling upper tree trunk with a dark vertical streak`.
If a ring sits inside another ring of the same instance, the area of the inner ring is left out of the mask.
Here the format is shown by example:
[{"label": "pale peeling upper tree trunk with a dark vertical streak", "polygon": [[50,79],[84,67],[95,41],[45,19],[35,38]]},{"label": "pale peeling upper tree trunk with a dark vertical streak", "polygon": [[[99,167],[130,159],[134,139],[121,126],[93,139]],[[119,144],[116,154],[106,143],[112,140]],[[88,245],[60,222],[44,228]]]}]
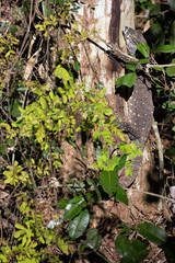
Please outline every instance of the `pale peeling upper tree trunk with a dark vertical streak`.
[{"label": "pale peeling upper tree trunk with a dark vertical streak", "polygon": [[[126,52],[122,28],[125,26],[133,27],[133,0],[89,0],[88,2],[91,7],[95,7],[95,10],[86,9],[86,7],[79,10],[79,18],[83,25],[89,32],[96,31],[105,41],[117,43]],[[105,47],[104,43],[95,41],[96,44]],[[80,56],[83,79],[90,87],[93,87],[95,82],[103,82],[108,102],[116,111],[118,106],[114,95],[115,81],[124,75],[122,67],[89,41],[81,45]]]}]

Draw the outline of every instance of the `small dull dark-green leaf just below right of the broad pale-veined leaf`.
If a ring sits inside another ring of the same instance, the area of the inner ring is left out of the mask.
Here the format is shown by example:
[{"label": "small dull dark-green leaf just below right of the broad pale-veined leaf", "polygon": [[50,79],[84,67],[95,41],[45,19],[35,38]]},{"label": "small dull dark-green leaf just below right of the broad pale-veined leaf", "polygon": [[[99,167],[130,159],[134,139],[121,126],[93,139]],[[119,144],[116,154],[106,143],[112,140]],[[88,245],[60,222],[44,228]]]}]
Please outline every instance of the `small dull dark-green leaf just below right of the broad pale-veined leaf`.
[{"label": "small dull dark-green leaf just below right of the broad pale-veined leaf", "polygon": [[92,250],[97,250],[101,247],[102,237],[97,229],[90,229],[86,233],[86,245]]}]

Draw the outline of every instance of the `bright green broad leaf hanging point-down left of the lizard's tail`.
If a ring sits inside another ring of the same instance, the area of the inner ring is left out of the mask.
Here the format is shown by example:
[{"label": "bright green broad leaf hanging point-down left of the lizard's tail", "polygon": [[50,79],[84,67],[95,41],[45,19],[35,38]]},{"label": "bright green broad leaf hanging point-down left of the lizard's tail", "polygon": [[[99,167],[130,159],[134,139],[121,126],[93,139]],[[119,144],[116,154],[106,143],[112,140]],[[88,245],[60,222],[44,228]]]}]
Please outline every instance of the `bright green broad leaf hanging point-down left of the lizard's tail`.
[{"label": "bright green broad leaf hanging point-down left of the lizard's tail", "polygon": [[110,197],[117,192],[118,174],[116,171],[102,171],[100,174],[100,183]]}]

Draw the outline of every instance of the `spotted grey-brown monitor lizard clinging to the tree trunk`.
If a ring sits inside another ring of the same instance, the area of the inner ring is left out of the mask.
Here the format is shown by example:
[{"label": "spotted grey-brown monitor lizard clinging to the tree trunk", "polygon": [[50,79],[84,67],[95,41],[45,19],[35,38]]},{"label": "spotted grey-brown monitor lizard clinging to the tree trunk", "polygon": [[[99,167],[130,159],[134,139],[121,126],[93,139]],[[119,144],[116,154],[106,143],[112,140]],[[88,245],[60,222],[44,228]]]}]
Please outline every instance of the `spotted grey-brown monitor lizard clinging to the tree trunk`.
[{"label": "spotted grey-brown monitor lizard clinging to the tree trunk", "polygon": [[[139,43],[145,43],[141,32],[130,27],[124,28],[124,36],[130,56],[135,55]],[[150,83],[143,75],[138,76],[132,93],[128,100],[128,122],[121,122],[119,125],[131,140],[137,140],[140,145],[145,145],[152,125],[153,108]],[[141,160],[141,156],[135,158],[132,176],[121,176],[121,186],[129,187],[133,183],[138,175]]]}]

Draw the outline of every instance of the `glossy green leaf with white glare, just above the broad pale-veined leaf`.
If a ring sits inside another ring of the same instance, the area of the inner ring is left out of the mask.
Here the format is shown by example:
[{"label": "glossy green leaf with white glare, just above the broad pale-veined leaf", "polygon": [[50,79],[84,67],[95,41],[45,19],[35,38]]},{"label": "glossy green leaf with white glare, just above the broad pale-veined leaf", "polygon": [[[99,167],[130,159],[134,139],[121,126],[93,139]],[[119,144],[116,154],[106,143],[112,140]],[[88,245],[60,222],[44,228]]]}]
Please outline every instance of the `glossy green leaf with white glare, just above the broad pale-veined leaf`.
[{"label": "glossy green leaf with white glare, just above the broad pale-veined leaf", "polygon": [[73,199],[69,202],[65,209],[65,219],[74,218],[84,207],[86,206],[86,202],[82,195],[75,196]]}]

